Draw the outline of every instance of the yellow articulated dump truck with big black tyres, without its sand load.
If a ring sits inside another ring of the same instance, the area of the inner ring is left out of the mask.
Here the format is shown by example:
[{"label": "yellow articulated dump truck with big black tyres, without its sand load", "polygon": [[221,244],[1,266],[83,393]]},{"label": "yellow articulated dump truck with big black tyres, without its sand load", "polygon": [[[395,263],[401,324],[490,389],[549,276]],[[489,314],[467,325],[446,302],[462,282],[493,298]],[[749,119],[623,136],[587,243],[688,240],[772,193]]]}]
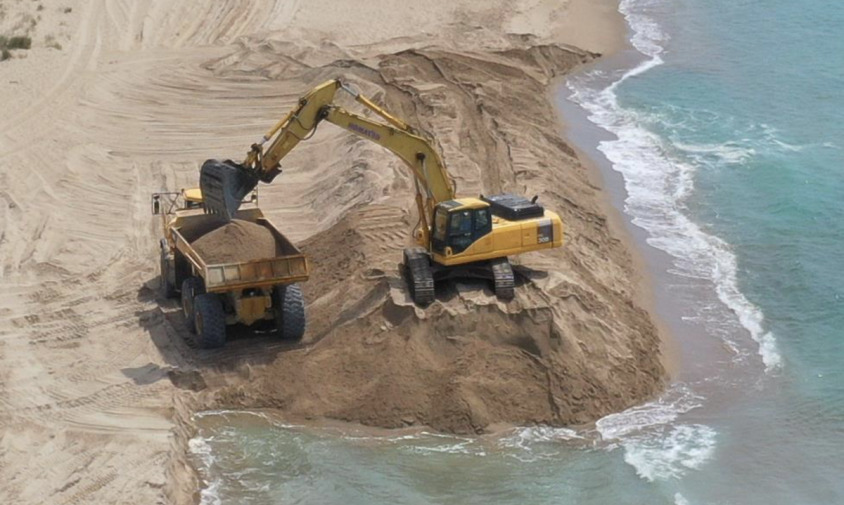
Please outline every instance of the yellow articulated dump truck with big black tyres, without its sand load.
[{"label": "yellow articulated dump truck with big black tyres, without its sand load", "polygon": [[[252,198],[252,202],[257,199]],[[305,303],[299,283],[308,280],[308,261],[256,205],[244,205],[235,219],[266,228],[276,254],[243,262],[214,263],[194,244],[226,226],[206,214],[198,189],[152,195],[153,214],[162,216],[160,289],[166,298],[181,294],[188,329],[205,349],[222,347],[226,327],[274,320],[283,339],[298,340],[305,332]]]}]

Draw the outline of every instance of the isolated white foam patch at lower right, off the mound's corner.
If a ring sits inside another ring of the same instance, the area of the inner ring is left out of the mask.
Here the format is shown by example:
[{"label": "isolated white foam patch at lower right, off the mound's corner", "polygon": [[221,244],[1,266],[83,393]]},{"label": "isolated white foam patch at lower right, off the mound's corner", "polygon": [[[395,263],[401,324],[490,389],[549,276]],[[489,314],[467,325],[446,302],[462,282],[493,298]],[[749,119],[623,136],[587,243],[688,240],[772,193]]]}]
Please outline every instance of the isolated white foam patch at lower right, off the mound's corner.
[{"label": "isolated white foam patch at lower right, off the mound's corner", "polygon": [[715,430],[702,424],[674,426],[664,437],[632,437],[622,442],[624,461],[643,479],[668,480],[700,468],[715,451]]}]

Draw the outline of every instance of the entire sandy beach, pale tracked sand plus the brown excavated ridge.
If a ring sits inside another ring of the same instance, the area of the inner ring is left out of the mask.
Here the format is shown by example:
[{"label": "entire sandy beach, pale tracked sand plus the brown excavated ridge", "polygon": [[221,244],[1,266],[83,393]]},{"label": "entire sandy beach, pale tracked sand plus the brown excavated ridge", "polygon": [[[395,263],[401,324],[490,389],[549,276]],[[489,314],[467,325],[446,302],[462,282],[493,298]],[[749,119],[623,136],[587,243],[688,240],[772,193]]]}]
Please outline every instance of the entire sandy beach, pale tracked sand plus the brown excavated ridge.
[{"label": "entire sandy beach, pale tracked sand plus the brown excavated ridge", "polygon": [[[548,100],[620,39],[612,2],[67,6],[0,14],[3,30],[41,16],[33,48],[0,62],[0,501],[193,503],[197,408],[465,433],[589,422],[660,389],[639,275]],[[177,303],[155,295],[149,194],[240,158],[338,76],[434,136],[461,194],[538,194],[567,246],[519,258],[508,304],[453,284],[414,307],[396,269],[412,180],[326,125],[260,190],[312,259],[305,340],[194,348]]]}]

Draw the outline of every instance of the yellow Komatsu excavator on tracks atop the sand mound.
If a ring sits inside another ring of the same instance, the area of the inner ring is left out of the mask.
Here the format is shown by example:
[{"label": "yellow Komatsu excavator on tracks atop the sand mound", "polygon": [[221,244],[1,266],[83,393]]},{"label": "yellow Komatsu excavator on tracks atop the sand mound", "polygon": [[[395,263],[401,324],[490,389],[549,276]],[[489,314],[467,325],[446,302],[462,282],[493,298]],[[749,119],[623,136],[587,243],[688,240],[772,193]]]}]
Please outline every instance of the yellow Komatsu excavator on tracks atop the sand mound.
[{"label": "yellow Komatsu excavator on tracks atop the sand mound", "polygon": [[[339,90],[348,92],[386,122],[335,105]],[[498,297],[512,298],[515,279],[508,256],[563,245],[562,220],[538,204],[537,197],[528,200],[501,194],[457,198],[432,143],[339,79],[320,84],[303,96],[293,110],[252,145],[242,163],[206,161],[200,172],[206,212],[224,220],[234,217],[243,198],[258,182],[272,182],[281,173],[280,161],[299,142],[314,135],[323,121],[386,148],[413,173],[419,211],[414,231],[418,247],[405,249],[402,269],[417,304],[431,303],[435,283],[453,277],[491,279]]]}]

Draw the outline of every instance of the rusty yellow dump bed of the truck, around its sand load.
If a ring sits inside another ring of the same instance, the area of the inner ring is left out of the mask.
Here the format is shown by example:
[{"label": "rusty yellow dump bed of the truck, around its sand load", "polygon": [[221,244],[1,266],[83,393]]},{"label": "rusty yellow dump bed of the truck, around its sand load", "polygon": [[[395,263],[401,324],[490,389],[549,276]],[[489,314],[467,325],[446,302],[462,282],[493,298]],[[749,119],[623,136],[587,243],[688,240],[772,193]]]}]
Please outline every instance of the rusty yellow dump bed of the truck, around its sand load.
[{"label": "rusty yellow dump bed of the truck, around its sand load", "polygon": [[309,270],[305,255],[264,218],[259,209],[244,209],[235,217],[270,230],[276,241],[276,256],[245,262],[209,264],[191,244],[225,223],[212,215],[197,213],[180,217],[178,225],[172,228],[176,249],[193,265],[196,275],[203,278],[206,291],[220,293],[292,284],[308,279]]}]

